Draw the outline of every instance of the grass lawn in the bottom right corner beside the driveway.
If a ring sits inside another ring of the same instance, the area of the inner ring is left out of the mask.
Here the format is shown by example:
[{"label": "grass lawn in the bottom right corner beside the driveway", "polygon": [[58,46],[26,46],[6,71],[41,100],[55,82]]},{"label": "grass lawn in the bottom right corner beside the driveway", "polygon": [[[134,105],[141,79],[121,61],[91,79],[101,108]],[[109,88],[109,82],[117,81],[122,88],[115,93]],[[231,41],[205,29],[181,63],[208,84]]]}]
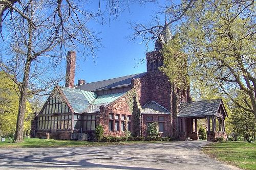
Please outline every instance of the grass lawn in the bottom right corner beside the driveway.
[{"label": "grass lawn in the bottom right corner beside the driveway", "polygon": [[230,141],[211,143],[203,152],[244,169],[256,169],[256,143]]}]

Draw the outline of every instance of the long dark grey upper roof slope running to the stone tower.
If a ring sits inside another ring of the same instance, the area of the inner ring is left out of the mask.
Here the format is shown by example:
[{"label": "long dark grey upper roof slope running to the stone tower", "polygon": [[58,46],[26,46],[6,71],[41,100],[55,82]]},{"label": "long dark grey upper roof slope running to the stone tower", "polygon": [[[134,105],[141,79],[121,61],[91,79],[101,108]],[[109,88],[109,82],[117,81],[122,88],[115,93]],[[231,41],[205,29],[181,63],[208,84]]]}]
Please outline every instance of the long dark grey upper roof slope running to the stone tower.
[{"label": "long dark grey upper roof slope running to the stone tower", "polygon": [[108,80],[101,80],[97,82],[82,84],[75,88],[80,90],[86,90],[86,91],[100,91],[100,90],[106,90],[106,89],[112,89],[112,88],[126,87],[126,86],[131,86],[131,82],[133,78],[137,79],[144,76],[145,74],[146,72],[143,72],[135,75],[123,76],[123,77],[118,77],[118,78],[108,79]]}]

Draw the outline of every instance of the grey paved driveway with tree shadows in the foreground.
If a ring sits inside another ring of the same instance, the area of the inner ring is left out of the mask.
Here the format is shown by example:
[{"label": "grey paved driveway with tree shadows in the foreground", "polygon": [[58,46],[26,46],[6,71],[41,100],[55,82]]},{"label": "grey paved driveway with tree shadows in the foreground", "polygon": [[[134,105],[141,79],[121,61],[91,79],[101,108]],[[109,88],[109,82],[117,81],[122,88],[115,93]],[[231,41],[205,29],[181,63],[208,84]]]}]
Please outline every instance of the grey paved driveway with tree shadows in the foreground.
[{"label": "grey paved driveway with tree shadows in the foreground", "polygon": [[0,149],[0,169],[239,169],[209,158],[204,141],[91,148]]}]

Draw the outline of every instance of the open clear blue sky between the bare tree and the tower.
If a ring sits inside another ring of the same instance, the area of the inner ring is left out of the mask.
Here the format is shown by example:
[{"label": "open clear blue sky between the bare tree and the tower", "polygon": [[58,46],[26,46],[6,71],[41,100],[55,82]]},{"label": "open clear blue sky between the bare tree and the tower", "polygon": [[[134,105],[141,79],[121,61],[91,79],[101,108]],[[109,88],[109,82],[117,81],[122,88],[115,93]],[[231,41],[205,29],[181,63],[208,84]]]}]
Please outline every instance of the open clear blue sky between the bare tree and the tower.
[{"label": "open clear blue sky between the bare tree and the tower", "polygon": [[[111,79],[126,75],[137,74],[146,71],[146,63],[140,63],[145,58],[146,51],[154,50],[154,43],[140,44],[141,40],[130,41],[128,36],[133,33],[128,21],[140,21],[145,23],[156,16],[159,10],[159,3],[146,3],[141,6],[139,3],[130,4],[130,11],[127,9],[119,13],[118,20],[111,20],[105,25],[90,23],[90,27],[100,34],[102,47],[97,51],[96,63],[91,57],[82,56],[77,52],[75,83],[78,79],[86,82],[95,82],[104,79]],[[159,15],[164,25],[165,16]],[[84,61],[84,57],[87,59]]]}]

